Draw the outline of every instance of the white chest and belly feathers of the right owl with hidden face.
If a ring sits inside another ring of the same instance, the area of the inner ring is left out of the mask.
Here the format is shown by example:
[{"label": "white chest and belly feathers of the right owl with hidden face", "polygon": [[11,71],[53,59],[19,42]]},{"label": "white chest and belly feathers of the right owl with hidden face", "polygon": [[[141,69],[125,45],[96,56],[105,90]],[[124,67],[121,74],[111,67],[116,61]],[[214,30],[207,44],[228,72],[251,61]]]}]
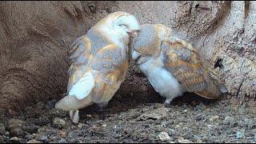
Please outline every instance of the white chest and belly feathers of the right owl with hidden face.
[{"label": "white chest and belly feathers of the right owl with hidden face", "polygon": [[150,84],[163,97],[170,98],[182,94],[182,86],[178,80],[174,78],[169,71],[163,68],[162,54],[158,58],[150,58],[149,61],[143,63],[140,69],[146,74]]}]

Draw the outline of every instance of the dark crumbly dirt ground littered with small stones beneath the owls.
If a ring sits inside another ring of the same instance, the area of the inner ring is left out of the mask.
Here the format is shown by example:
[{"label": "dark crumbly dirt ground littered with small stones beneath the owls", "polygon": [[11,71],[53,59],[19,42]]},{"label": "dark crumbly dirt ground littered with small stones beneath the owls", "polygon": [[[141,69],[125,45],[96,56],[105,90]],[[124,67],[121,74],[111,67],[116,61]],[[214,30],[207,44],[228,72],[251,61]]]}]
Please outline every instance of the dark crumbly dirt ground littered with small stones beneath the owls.
[{"label": "dark crumbly dirt ground littered with small stones beneath the owls", "polygon": [[[118,93],[120,94],[120,93]],[[163,106],[159,95],[143,102],[116,96],[104,110],[80,111],[80,123],[54,109],[56,100],[38,102],[0,123],[0,142],[254,142],[254,110],[185,94]]]}]

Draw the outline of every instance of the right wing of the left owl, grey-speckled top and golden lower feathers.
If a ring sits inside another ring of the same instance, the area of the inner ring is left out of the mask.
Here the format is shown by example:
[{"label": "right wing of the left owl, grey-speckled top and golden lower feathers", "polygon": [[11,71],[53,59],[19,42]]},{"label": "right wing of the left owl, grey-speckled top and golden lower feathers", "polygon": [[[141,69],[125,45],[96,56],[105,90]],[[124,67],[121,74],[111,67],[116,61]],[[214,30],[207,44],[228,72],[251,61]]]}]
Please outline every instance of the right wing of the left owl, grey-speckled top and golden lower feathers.
[{"label": "right wing of the left owl, grey-speckled top and golden lower feathers", "polygon": [[129,58],[126,50],[117,45],[108,45],[99,50],[92,61],[96,76],[94,102],[108,102],[126,78]]}]

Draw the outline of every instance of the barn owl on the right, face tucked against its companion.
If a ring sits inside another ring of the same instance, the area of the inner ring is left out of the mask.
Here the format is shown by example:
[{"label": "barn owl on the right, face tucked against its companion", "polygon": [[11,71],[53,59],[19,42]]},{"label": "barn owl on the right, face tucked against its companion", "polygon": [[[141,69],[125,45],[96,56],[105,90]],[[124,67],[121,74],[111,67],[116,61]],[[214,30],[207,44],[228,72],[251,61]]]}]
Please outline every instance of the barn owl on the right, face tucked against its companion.
[{"label": "barn owl on the right, face tucked against its companion", "polygon": [[142,25],[132,42],[132,59],[162,97],[165,105],[184,92],[218,98],[226,92],[218,75],[206,68],[189,42],[174,38],[173,30],[161,24]]}]

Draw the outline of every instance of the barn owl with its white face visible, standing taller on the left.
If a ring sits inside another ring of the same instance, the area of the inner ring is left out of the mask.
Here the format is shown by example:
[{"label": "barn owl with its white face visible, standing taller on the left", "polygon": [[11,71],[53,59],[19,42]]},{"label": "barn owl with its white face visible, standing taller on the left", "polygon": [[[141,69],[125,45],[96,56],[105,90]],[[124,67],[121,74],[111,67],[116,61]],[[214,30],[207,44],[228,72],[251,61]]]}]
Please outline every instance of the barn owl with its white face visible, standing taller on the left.
[{"label": "barn owl with its white face visible, standing taller on the left", "polygon": [[69,110],[72,121],[78,123],[79,109],[94,103],[106,106],[126,78],[128,43],[138,30],[137,18],[126,12],[114,12],[74,40],[67,95],[55,107]]}]

